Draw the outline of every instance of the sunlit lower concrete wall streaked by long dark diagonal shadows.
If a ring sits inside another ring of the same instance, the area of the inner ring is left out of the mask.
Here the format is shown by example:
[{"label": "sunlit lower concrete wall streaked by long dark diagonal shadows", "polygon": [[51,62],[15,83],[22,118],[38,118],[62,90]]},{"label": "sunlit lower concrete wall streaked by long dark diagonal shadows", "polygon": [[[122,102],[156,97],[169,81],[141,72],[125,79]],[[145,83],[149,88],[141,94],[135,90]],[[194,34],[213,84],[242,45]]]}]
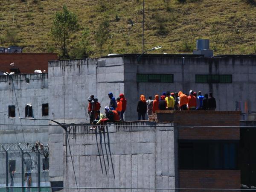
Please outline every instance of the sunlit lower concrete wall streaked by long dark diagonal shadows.
[{"label": "sunlit lower concrete wall streaked by long dark diagonal shadows", "polygon": [[[89,131],[89,126],[73,128],[69,138],[78,186],[174,188],[175,130],[162,127],[172,124],[126,122],[121,125],[130,126],[108,126],[100,133]],[[67,146],[63,147],[64,186],[76,186],[70,154]]]}]

